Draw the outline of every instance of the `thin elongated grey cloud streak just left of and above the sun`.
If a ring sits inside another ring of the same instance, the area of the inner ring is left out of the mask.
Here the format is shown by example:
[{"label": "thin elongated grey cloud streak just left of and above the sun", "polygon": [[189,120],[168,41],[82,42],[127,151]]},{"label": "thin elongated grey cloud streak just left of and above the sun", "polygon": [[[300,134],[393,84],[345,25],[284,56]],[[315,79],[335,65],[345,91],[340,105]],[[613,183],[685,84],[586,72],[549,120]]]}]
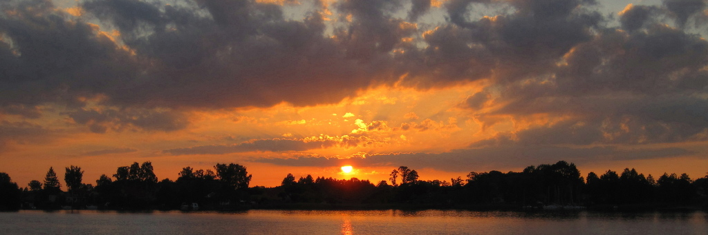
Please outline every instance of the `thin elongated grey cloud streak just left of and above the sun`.
[{"label": "thin elongated grey cloud streak just left of and above the sun", "polygon": [[333,140],[289,140],[289,139],[263,139],[235,145],[201,145],[182,147],[162,152],[171,155],[223,155],[234,152],[285,152],[306,151],[332,147],[336,145]]}]

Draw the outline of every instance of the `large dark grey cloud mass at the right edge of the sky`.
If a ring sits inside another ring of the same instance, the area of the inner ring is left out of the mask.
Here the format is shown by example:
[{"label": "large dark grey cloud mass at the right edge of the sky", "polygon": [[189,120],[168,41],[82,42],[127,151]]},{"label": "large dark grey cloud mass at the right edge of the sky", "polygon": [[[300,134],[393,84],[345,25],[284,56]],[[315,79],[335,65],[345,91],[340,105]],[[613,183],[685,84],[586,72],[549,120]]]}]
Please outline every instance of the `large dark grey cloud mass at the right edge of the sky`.
[{"label": "large dark grey cloud mass at the right edge of the sky", "polygon": [[[632,10],[634,8],[630,8]],[[496,114],[569,120],[518,131],[520,143],[675,143],[706,140],[708,44],[658,23],[605,30],[573,48],[548,78],[501,88]],[[474,102],[467,104],[476,109]]]}]

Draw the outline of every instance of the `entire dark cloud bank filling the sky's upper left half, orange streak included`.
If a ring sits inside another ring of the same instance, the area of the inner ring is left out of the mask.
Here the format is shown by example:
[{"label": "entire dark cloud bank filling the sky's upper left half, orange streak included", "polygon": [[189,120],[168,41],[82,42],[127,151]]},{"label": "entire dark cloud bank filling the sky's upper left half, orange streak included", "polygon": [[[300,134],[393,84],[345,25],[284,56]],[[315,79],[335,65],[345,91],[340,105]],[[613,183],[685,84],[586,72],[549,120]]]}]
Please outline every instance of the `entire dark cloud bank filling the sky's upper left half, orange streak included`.
[{"label": "entire dark cloud bank filling the sky's upper left half, orange streak included", "polygon": [[[355,5],[341,9],[362,16],[367,12],[360,11],[378,11],[355,10]],[[388,79],[392,71],[385,59],[390,45],[375,50],[382,56],[369,61],[350,56],[343,44],[390,44],[402,36],[338,42],[324,35],[318,11],[302,21],[285,20],[281,6],[251,1],[198,6],[96,0],[81,7],[86,11],[81,17],[96,16],[117,28],[117,36],[107,37],[98,25],[55,11],[51,1],[3,3],[9,13],[0,18],[0,73],[7,78],[0,81],[1,106],[70,102],[81,107],[82,97],[96,95],[105,95],[105,104],[115,107],[333,103],[372,85],[370,78]],[[377,25],[363,21],[358,32],[364,34]],[[401,23],[388,22],[377,34]]]}]

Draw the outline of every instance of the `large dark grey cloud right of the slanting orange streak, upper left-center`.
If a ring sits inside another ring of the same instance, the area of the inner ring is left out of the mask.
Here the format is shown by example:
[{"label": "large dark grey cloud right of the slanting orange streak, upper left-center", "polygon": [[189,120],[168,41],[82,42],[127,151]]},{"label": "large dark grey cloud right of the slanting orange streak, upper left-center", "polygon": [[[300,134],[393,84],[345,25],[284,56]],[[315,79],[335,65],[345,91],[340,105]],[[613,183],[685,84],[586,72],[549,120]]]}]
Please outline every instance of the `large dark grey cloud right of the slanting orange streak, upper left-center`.
[{"label": "large dark grey cloud right of the slanting orange streak, upper left-center", "polygon": [[[367,53],[358,45],[371,44],[360,44],[360,37],[339,38],[357,47],[350,49],[325,37],[324,18],[318,12],[292,21],[283,18],[280,6],[251,1],[199,1],[202,8],[120,2],[149,10],[128,13],[123,11],[127,6],[101,0],[84,5],[102,20],[125,25],[119,26],[125,28],[121,39],[152,64],[149,77],[130,83],[127,90],[107,91],[116,103],[212,108],[331,103],[391,70],[386,66],[390,62],[353,56]],[[391,22],[375,32],[389,32],[395,24]],[[377,35],[361,39],[370,37],[379,38],[375,42],[382,45],[396,40]],[[376,54],[386,54],[390,47],[382,46]]]}]

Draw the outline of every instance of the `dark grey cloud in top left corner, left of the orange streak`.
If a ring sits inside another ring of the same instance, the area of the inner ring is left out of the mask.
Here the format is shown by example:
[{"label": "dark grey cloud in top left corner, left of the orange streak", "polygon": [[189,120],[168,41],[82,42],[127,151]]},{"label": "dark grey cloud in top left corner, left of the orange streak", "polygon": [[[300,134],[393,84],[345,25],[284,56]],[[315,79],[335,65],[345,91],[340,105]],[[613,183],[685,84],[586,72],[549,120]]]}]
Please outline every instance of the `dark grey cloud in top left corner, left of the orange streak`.
[{"label": "dark grey cloud in top left corner, left of the orange streak", "polygon": [[50,1],[0,4],[0,106],[74,102],[139,71],[110,38],[88,23],[67,20]]}]

